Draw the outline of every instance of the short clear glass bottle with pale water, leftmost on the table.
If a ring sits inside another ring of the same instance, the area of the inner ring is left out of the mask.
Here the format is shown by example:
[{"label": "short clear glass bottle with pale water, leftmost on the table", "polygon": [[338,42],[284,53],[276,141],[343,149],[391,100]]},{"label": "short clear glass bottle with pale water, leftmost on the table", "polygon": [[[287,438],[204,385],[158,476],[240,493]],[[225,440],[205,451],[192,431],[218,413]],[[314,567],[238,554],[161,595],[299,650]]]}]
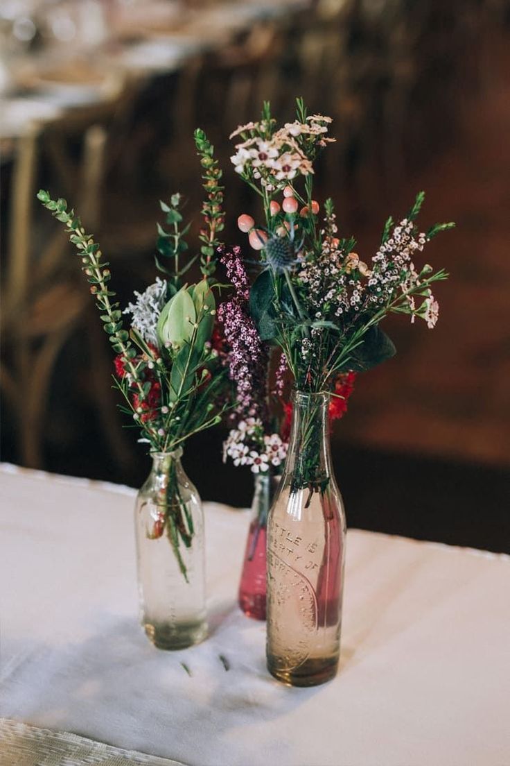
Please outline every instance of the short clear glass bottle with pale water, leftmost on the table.
[{"label": "short clear glass bottle with pale water, leftmost on the table", "polygon": [[207,633],[202,502],[181,456],[180,448],[151,453],[135,506],[140,620],[159,649],[184,649]]}]

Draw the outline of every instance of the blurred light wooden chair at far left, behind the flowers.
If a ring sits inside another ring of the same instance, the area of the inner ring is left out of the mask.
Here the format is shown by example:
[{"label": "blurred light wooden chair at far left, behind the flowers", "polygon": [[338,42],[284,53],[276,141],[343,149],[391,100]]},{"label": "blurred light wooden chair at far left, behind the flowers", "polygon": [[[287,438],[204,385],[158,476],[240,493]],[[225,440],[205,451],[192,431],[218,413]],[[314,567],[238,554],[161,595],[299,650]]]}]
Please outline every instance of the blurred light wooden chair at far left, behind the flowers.
[{"label": "blurred light wooden chair at far left, behind the flowers", "polygon": [[[19,139],[11,185],[9,252],[2,283],[0,386],[17,423],[19,459],[34,468],[44,465],[47,399],[57,358],[78,326],[84,328],[83,336],[89,343],[93,395],[106,439],[117,460],[131,460],[109,386],[112,359],[109,355],[107,358],[109,349],[105,349],[101,333],[96,332],[96,326],[100,330],[99,322],[92,316],[95,307],[79,264],[67,259],[70,246],[65,233],[57,231],[42,211],[41,215],[34,214],[38,211],[34,195],[41,154],[54,146],[59,155],[59,161],[51,163],[57,175],[55,188],[60,191],[67,181],[69,188],[75,189],[76,208],[84,223],[92,230],[96,228],[107,129],[104,125],[78,123],[73,128],[77,133],[84,128],[77,161],[65,152],[63,141],[55,141],[51,128],[43,131],[34,127]],[[56,132],[62,136],[63,130],[60,125]],[[51,156],[55,159],[55,152]]]}]

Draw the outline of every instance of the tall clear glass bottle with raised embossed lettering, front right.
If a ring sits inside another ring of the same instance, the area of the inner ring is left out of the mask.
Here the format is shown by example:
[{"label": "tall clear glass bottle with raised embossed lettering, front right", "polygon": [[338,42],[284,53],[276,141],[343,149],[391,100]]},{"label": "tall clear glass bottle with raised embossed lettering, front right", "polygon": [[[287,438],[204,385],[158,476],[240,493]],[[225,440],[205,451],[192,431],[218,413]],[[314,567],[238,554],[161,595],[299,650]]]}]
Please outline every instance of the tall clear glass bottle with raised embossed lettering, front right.
[{"label": "tall clear glass bottle with raised embossed lettering, front right", "polygon": [[268,517],[269,672],[291,686],[336,675],[346,522],[330,456],[328,394],[294,393],[284,473]]}]

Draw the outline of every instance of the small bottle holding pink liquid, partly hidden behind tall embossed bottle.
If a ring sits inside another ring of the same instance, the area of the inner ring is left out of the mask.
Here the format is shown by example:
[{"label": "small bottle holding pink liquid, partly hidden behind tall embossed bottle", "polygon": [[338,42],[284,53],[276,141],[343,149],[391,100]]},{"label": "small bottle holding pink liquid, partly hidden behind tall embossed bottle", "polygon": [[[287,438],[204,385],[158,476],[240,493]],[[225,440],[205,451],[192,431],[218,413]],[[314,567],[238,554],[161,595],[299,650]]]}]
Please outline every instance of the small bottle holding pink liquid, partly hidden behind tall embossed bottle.
[{"label": "small bottle holding pink liquid, partly hidden behind tall embossed bottle", "polygon": [[252,518],[239,583],[239,607],[255,620],[265,620],[266,531],[268,512],[279,482],[280,476],[274,476],[271,469],[255,474]]}]

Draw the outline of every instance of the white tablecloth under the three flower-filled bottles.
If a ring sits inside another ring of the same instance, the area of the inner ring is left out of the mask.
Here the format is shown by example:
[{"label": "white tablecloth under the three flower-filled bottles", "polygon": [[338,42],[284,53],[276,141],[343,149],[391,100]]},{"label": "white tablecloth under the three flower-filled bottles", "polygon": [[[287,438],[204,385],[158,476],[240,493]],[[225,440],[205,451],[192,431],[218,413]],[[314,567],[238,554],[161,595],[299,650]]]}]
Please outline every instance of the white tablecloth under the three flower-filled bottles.
[{"label": "white tablecloth under the three flower-filled bottles", "polygon": [[351,530],[339,675],[290,689],[236,608],[248,516],[226,506],[206,507],[210,638],[151,646],[134,494],[0,470],[0,715],[193,766],[510,764],[508,557]]}]

